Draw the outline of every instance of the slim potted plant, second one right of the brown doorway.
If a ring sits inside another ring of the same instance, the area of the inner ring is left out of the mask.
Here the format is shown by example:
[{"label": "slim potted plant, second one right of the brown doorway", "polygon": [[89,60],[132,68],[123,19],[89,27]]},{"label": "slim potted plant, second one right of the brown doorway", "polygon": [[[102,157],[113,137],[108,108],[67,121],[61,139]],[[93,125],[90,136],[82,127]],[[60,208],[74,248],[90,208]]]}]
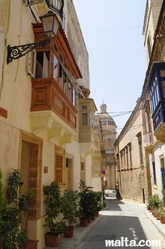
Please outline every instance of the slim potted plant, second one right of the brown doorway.
[{"label": "slim potted plant, second one right of the brown doorway", "polygon": [[68,227],[68,230],[64,236],[72,238],[77,218],[80,217],[78,191],[65,189],[62,195],[61,207],[66,226]]}]

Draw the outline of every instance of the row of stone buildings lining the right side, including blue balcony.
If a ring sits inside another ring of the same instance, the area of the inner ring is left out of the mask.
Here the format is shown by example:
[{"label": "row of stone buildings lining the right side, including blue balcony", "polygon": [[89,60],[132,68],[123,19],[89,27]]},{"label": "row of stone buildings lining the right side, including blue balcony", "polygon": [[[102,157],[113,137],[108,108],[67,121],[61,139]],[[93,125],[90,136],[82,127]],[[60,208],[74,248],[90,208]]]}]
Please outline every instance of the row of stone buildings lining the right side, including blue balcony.
[{"label": "row of stone buildings lining the right side, including blue balcony", "polygon": [[140,202],[147,202],[153,194],[163,198],[165,190],[164,13],[164,1],[146,1],[146,76],[137,105],[115,142],[120,194]]}]

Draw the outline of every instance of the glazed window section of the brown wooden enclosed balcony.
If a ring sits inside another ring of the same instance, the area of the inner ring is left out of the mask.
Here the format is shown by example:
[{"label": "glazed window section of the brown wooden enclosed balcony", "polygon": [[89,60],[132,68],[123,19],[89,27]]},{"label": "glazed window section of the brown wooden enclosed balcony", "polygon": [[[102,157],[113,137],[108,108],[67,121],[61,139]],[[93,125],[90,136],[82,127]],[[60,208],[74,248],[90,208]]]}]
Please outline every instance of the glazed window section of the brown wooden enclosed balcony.
[{"label": "glazed window section of the brown wooden enclosed balcony", "polygon": [[[33,78],[54,78],[73,106],[76,106],[77,83],[58,47],[53,50],[30,53],[28,73]],[[50,58],[51,57],[51,58]],[[73,82],[74,81],[74,82]]]}]

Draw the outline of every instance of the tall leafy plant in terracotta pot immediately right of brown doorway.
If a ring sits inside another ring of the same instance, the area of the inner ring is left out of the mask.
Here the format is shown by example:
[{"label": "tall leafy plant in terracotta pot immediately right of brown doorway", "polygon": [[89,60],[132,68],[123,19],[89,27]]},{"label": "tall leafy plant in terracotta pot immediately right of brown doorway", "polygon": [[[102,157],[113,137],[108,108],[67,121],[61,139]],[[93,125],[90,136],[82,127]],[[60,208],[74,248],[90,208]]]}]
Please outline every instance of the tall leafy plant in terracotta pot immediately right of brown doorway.
[{"label": "tall leafy plant in terracotta pot immediately right of brown doorway", "polygon": [[46,246],[56,246],[60,234],[67,231],[65,221],[59,218],[61,212],[61,191],[58,183],[53,181],[49,185],[43,186],[43,194],[45,196],[44,204],[46,205],[46,215],[44,227],[48,227],[49,231],[45,234]]}]

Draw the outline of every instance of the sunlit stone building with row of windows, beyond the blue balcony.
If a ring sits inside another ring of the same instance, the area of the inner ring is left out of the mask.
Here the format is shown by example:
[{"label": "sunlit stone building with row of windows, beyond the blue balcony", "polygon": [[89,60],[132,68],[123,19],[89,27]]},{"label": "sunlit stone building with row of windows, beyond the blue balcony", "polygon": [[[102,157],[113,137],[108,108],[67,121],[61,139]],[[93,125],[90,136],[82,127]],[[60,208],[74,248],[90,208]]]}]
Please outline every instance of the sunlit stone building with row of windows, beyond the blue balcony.
[{"label": "sunlit stone building with row of windows, beyond the blue balcony", "polygon": [[148,197],[147,166],[143,147],[143,103],[137,105],[115,141],[116,184],[122,198],[145,202]]}]

